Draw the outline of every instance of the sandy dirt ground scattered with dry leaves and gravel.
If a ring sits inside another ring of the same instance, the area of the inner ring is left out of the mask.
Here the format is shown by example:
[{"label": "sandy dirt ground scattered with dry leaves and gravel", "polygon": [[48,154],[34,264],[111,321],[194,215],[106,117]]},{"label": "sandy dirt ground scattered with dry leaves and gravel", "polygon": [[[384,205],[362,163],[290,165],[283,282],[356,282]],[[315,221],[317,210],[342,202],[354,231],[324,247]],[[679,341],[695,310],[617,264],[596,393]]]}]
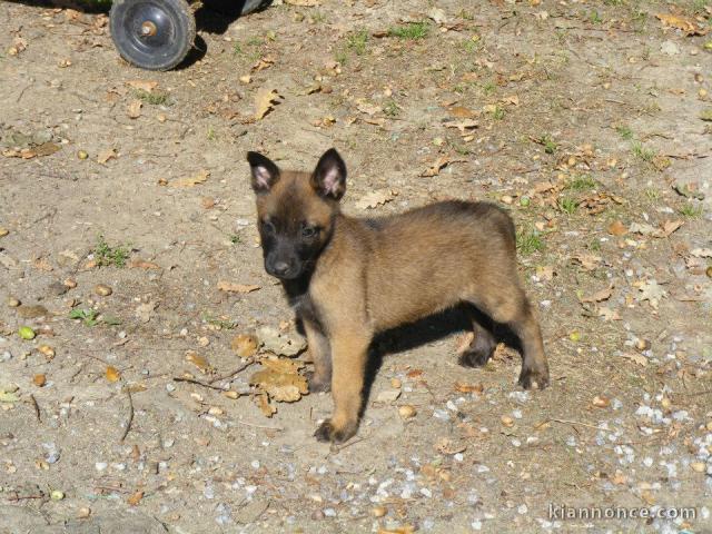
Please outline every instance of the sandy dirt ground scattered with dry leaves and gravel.
[{"label": "sandy dirt ground scattered with dry leaves and gravel", "polygon": [[[711,2],[319,3],[204,10],[162,73],[105,14],[0,4],[0,533],[712,532],[712,36],[655,17],[705,33]],[[296,336],[244,156],[332,146],[352,214],[511,209],[551,388],[518,390],[510,348],[459,367],[456,314],[386,344],[337,449],[312,436],[328,396],[267,418],[174,380]]]}]

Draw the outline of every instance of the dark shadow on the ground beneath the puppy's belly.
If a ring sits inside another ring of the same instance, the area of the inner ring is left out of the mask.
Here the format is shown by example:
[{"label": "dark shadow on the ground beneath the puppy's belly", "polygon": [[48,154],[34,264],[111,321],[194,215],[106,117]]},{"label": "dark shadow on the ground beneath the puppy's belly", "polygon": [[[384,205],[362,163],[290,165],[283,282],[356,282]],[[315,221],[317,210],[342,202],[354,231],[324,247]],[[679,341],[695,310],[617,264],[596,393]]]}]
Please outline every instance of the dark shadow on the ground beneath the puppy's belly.
[{"label": "dark shadow on the ground beneath the puppy's belly", "polygon": [[[510,327],[494,323],[474,306],[462,304],[437,315],[386,330],[374,338],[368,353],[368,365],[364,379],[363,409],[366,408],[370,389],[386,356],[411,350],[458,332],[471,332],[473,316],[482,326],[493,333],[497,343],[504,343],[522,354],[521,342]],[[443,356],[455,358],[455,348],[453,347],[449,352],[452,354]]]}]

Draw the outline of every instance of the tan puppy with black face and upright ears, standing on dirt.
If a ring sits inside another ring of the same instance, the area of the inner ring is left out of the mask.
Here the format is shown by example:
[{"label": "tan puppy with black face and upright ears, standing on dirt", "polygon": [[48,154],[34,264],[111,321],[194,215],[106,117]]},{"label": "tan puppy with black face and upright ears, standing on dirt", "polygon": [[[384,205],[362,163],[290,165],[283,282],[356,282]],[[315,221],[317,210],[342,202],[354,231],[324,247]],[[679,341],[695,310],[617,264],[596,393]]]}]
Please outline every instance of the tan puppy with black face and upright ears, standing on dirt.
[{"label": "tan puppy with black face and upright ears, standing on dirt", "polygon": [[[380,219],[342,214],[346,165],[335,149],[314,172],[283,171],[248,152],[265,269],[281,281],[301,319],[314,374],[312,392],[332,390],[323,442],[356,434],[369,344],[378,332],[458,303],[506,324],[522,347],[520,384],[548,385],[538,322],[517,275],[514,224],[487,202],[445,201]],[[461,356],[482,366],[492,334],[473,317],[474,340]]]}]

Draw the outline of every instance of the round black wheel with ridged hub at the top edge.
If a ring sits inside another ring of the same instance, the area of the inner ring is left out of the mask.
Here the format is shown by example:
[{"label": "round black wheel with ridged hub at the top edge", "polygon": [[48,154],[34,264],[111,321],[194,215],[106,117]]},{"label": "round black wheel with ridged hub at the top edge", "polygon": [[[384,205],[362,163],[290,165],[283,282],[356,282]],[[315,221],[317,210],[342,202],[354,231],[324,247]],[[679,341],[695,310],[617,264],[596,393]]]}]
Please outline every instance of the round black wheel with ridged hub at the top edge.
[{"label": "round black wheel with ridged hub at the top edge", "polygon": [[[144,37],[146,21],[155,33]],[[186,0],[113,0],[109,27],[121,57],[148,70],[172,69],[196,39],[196,19]]]}]

